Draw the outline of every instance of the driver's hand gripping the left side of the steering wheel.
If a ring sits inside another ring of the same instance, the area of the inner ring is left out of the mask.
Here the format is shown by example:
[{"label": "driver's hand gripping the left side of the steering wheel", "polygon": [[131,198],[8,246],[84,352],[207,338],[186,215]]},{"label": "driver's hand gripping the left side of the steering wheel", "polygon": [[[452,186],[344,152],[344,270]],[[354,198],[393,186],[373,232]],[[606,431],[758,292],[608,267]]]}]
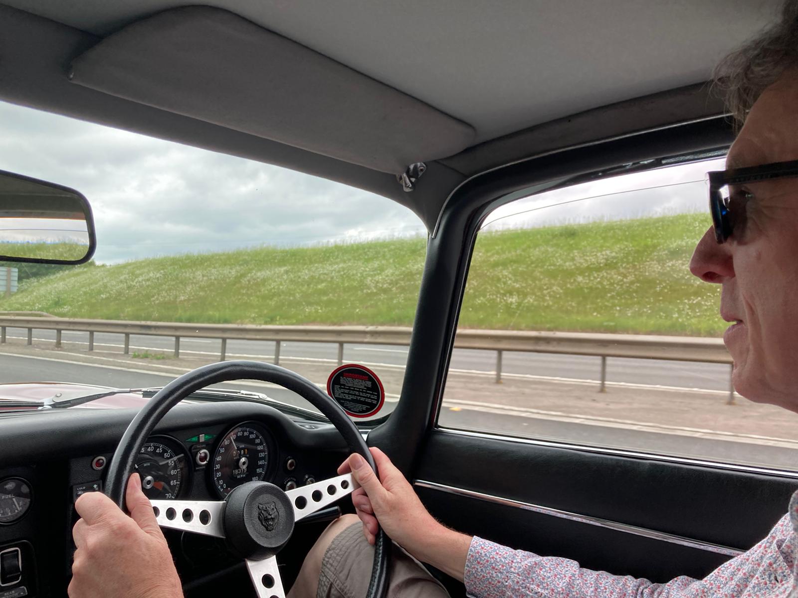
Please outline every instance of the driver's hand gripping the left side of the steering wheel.
[{"label": "driver's hand gripping the left side of the steering wheel", "polygon": [[172,553],[132,474],[125,494],[130,516],[99,492],[75,502],[81,519],[72,536],[77,550],[72,565],[70,598],[179,598],[183,596]]}]

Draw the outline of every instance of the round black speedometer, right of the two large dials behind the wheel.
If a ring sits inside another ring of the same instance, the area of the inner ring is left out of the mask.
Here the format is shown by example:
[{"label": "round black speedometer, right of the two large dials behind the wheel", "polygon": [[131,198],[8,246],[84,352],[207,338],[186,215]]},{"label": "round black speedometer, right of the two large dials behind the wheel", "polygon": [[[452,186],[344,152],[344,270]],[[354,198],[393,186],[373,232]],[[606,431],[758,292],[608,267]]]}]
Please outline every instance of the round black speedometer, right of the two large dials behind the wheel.
[{"label": "round black speedometer, right of the two large dials behind the wheel", "polygon": [[213,486],[222,498],[245,482],[262,482],[269,466],[266,431],[251,423],[234,427],[219,441],[211,464]]}]

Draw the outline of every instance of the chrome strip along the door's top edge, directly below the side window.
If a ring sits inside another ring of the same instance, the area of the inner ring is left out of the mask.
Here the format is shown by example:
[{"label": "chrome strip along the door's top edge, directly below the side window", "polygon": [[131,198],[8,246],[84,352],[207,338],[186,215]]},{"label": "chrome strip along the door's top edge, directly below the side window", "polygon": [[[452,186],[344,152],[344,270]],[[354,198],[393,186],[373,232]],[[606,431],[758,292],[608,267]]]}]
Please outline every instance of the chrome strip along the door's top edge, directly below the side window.
[{"label": "chrome strip along the door's top edge, directly below the side window", "polygon": [[583,453],[612,454],[618,457],[650,459],[651,461],[660,461],[666,463],[681,463],[682,465],[694,465],[701,467],[712,467],[713,469],[719,469],[719,470],[739,471],[739,472],[744,472],[746,474],[769,475],[769,476],[776,476],[779,478],[789,478],[789,479],[798,480],[798,471],[776,470],[776,469],[769,469],[768,467],[737,465],[735,463],[724,463],[717,461],[705,461],[702,459],[675,457],[666,454],[644,453],[642,451],[636,451],[636,450],[623,450],[623,449],[613,449],[606,447],[587,447],[580,444],[568,444],[564,442],[559,443],[553,440],[525,439],[525,438],[519,438],[517,436],[505,436],[500,434],[490,434],[488,432],[455,430],[453,428],[441,428],[441,427],[434,428],[433,434],[450,434],[457,436],[470,436],[471,438],[481,438],[488,440],[502,440],[508,443],[531,444],[537,447],[552,447],[552,448],[562,448],[567,450],[579,450],[582,451]]}]

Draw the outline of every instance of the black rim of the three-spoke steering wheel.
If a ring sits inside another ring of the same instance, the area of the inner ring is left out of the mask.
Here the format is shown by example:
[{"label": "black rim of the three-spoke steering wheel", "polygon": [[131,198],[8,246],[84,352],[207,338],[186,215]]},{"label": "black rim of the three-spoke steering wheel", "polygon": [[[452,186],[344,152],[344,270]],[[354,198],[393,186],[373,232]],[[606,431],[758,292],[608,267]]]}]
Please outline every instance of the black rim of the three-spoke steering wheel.
[{"label": "black rim of the three-spoke steering wheel", "polygon": [[[374,462],[358,427],[354,425],[338,403],[330,399],[330,396],[310,380],[274,364],[260,361],[223,361],[204,365],[172,380],[141,408],[128,429],[124,431],[117,450],[111,458],[105,481],[105,494],[122,510],[125,510],[124,493],[128,478],[132,474],[141,447],[144,446],[156,425],[172,407],[192,392],[229,380],[261,380],[279,384],[282,388],[296,392],[303,399],[308,400],[318,411],[321,411],[327,419],[330,419],[330,423],[346,440],[350,450],[361,454],[371,468],[375,472],[377,471],[377,464]],[[379,529],[377,541],[374,544],[374,563],[366,598],[387,596],[390,546],[389,537],[382,529]]]}]

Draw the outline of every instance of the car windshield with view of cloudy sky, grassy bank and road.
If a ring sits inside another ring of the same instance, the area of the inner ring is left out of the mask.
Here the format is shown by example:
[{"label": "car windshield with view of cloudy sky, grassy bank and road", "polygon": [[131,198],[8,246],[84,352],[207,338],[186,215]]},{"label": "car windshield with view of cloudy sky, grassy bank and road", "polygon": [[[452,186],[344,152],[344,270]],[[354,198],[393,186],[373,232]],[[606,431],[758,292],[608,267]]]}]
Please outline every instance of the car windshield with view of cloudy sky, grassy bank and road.
[{"label": "car windshield with view of cloudy sky, grassy bank and road", "polygon": [[[325,389],[340,365],[361,364],[385,390],[370,419],[395,407],[426,246],[410,210],[280,167],[2,103],[0,170],[81,191],[97,227],[85,265],[0,262],[0,317],[27,318],[3,320],[0,409],[59,392],[158,388],[220,359],[279,363]],[[365,326],[406,334],[383,342],[371,333],[374,344]],[[217,387],[311,408],[269,384]],[[116,400],[129,406],[132,395]]]}]

